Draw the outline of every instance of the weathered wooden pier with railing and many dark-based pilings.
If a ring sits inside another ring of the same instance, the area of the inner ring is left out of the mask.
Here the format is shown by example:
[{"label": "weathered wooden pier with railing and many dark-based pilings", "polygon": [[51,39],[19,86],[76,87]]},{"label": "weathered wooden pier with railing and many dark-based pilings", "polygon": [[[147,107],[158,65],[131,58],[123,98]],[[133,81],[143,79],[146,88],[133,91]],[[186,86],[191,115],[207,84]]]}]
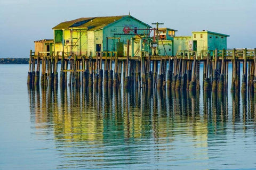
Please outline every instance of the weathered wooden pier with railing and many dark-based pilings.
[{"label": "weathered wooden pier with railing and many dark-based pilings", "polygon": [[[129,42],[127,42],[129,44]],[[129,46],[127,46],[129,54]],[[256,48],[179,51],[176,56],[120,56],[117,52],[97,52],[97,56],[77,56],[64,52],[35,54],[30,50],[27,84],[43,88],[157,88],[172,90],[200,89],[203,64],[203,90],[256,92]],[[60,68],[58,68],[58,63]],[[232,64],[232,75],[228,65]],[[241,64],[243,70],[241,70]],[[242,71],[242,79],[241,79]],[[231,82],[228,82],[231,76]],[[242,83],[241,83],[242,81]],[[240,86],[242,84],[242,86]]]}]

